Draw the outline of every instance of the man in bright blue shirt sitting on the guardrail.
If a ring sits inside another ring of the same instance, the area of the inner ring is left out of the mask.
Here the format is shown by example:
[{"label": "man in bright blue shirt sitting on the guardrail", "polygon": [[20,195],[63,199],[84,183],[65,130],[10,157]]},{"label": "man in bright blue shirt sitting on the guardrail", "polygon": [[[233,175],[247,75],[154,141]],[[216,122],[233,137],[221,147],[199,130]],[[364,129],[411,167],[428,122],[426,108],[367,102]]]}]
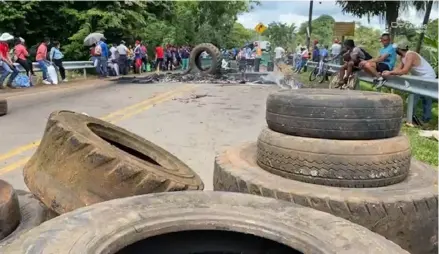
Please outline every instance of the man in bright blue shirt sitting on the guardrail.
[{"label": "man in bright blue shirt sitting on the guardrail", "polygon": [[381,35],[383,48],[380,49],[380,55],[377,58],[361,61],[360,68],[374,77],[374,84],[382,86],[385,83],[381,76],[383,71],[391,71],[396,63],[396,50],[393,48],[390,35],[384,33]]}]

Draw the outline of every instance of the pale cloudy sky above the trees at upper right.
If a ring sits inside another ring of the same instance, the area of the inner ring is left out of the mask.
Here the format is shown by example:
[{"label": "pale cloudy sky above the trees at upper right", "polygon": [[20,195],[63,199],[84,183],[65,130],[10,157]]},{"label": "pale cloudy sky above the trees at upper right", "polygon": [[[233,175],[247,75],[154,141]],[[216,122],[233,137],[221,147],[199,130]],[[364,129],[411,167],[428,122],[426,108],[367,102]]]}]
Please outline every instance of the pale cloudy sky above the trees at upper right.
[{"label": "pale cloudy sky above the trees at upper right", "polygon": [[[319,3],[321,2],[321,4]],[[245,13],[238,17],[238,22],[246,28],[253,29],[259,22],[267,25],[270,22],[284,22],[287,24],[295,23],[299,26],[302,22],[308,20],[309,1],[261,1],[261,5],[257,6],[250,13]],[[372,17],[370,23],[367,17],[359,19],[349,14],[343,15],[341,7],[335,4],[335,1],[316,1],[313,5],[313,19],[322,14],[331,15],[335,21],[352,22],[360,21],[365,26],[374,27],[385,30],[385,24],[380,22],[378,17]],[[437,7],[433,7],[430,18],[438,18],[439,12]],[[414,9],[409,9],[405,13],[400,14],[403,20],[411,21],[414,24],[421,25],[424,13],[417,13]]]}]

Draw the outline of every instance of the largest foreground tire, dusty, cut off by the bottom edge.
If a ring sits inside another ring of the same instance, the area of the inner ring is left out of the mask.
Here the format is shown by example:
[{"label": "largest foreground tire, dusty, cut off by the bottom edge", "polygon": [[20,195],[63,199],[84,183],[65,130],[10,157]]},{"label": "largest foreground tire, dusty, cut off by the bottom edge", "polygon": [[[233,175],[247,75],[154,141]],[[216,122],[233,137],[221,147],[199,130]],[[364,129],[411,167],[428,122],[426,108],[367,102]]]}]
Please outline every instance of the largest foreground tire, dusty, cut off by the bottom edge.
[{"label": "largest foreground tire, dusty, cut off by the bottom edge", "polygon": [[[141,240],[193,230],[256,235],[302,253],[407,253],[384,237],[327,213],[272,198],[211,191],[151,194],[81,208],[23,234],[1,251],[125,253],[125,246]],[[167,246],[173,243],[161,247]],[[175,253],[175,249],[144,251]]]}]

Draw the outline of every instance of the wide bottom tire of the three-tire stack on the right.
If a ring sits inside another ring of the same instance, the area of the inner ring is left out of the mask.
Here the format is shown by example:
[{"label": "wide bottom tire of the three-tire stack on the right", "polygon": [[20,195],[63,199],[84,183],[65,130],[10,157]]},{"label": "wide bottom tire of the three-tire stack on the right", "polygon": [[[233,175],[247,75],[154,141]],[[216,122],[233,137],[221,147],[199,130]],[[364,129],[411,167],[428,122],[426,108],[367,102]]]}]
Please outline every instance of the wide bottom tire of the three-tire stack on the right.
[{"label": "wide bottom tire of the three-tire stack on the right", "polygon": [[255,143],[249,143],[218,155],[214,190],[251,193],[312,207],[362,225],[412,254],[437,253],[438,177],[433,167],[412,160],[410,174],[401,183],[368,189],[337,188],[271,174],[256,164],[256,149]]}]

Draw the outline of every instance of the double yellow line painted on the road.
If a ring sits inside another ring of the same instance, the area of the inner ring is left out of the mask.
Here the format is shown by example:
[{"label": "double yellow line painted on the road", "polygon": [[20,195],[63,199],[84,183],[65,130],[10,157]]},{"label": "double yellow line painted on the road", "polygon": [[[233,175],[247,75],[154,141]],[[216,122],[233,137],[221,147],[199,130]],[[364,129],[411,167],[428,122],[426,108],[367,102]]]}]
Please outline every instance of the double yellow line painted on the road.
[{"label": "double yellow line painted on the road", "polygon": [[[181,94],[181,93],[184,93],[186,91],[190,91],[190,90],[194,89],[195,87],[196,87],[195,85],[185,85],[185,86],[179,87],[177,89],[173,89],[171,91],[159,94],[158,96],[155,96],[153,98],[149,98],[147,100],[141,101],[141,102],[136,103],[134,105],[131,105],[131,106],[128,106],[128,107],[123,108],[121,110],[118,110],[118,111],[115,111],[113,113],[110,113],[110,114],[108,114],[108,115],[106,115],[104,117],[101,117],[100,119],[102,119],[104,121],[111,122],[111,123],[116,123],[116,122],[125,120],[127,118],[130,118],[130,117],[132,117],[134,115],[137,115],[137,114],[139,114],[139,113],[141,113],[143,111],[146,111],[146,110],[150,109],[155,104],[159,104],[159,103],[165,102],[167,100],[170,100],[174,96],[176,96],[178,94]],[[136,108],[138,108],[138,109],[134,110]],[[130,113],[129,112],[130,110],[134,110],[134,111],[132,111]],[[128,113],[125,114],[125,112],[128,112]],[[116,116],[118,116],[118,115],[119,116],[122,115],[122,116],[119,117],[119,118],[116,118]],[[109,120],[111,118],[115,118],[115,119]],[[40,145],[40,142],[41,142],[41,140],[36,140],[36,141],[34,141],[32,143],[29,143],[27,145],[17,147],[17,148],[15,148],[15,149],[7,152],[7,153],[0,154],[0,161],[9,159],[9,158],[14,157],[16,155],[24,153],[24,152],[26,152],[28,150],[36,148],[36,147],[38,147]],[[25,165],[26,162],[29,159],[30,159],[30,157],[27,157],[27,158],[21,159],[21,160],[19,160],[17,162],[11,163],[11,164],[9,164],[8,166],[6,166],[4,168],[1,168],[0,169],[0,175],[5,174],[5,173],[7,173],[9,171],[12,171],[12,170],[14,170],[14,169],[16,169],[16,168],[18,168],[20,166]]]}]

